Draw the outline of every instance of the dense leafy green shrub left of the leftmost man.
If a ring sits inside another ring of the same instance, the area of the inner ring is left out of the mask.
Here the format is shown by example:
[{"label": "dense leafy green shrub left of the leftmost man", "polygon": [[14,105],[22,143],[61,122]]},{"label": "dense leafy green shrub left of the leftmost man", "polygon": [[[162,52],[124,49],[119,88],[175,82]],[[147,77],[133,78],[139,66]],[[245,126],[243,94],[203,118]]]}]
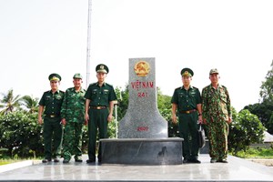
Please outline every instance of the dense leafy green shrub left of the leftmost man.
[{"label": "dense leafy green shrub left of the leftmost man", "polygon": [[0,147],[7,148],[10,157],[36,157],[43,153],[42,126],[37,113],[22,111],[0,116]]}]

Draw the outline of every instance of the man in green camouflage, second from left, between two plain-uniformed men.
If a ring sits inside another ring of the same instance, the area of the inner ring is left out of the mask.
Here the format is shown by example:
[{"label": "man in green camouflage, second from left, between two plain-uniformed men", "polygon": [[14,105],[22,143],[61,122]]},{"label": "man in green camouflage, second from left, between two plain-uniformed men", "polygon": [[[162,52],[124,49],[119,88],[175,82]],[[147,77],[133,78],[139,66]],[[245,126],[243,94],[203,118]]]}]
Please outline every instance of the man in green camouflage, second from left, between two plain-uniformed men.
[{"label": "man in green camouflage, second from left, between two plain-uniformed men", "polygon": [[65,126],[63,163],[68,163],[72,155],[75,155],[76,162],[83,162],[81,148],[85,123],[86,90],[81,86],[82,79],[80,74],[73,76],[74,87],[66,89],[62,105],[62,124]]}]

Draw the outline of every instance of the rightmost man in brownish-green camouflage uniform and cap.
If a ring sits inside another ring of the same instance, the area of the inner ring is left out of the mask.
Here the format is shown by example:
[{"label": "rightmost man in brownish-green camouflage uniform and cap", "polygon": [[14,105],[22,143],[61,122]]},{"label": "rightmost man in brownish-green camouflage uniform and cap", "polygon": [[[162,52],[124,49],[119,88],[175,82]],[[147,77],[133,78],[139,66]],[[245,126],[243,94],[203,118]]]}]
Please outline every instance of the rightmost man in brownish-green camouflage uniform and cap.
[{"label": "rightmost man in brownish-green camouflage uniform and cap", "polygon": [[203,123],[207,125],[210,162],[227,163],[228,124],[232,122],[226,86],[218,84],[218,71],[209,72],[211,84],[202,90]]}]

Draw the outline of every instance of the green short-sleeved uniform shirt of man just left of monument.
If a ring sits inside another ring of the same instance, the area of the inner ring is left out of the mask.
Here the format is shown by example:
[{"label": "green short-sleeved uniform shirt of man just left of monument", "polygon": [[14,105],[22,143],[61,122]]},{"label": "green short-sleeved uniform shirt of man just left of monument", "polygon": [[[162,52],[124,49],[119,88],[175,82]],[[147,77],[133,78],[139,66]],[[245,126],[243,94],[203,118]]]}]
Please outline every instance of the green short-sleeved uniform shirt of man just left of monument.
[{"label": "green short-sleeved uniform shirt of man just left of monument", "polygon": [[116,100],[116,93],[114,87],[109,84],[99,86],[94,83],[88,86],[85,97],[91,100],[89,106],[109,106],[110,101]]}]

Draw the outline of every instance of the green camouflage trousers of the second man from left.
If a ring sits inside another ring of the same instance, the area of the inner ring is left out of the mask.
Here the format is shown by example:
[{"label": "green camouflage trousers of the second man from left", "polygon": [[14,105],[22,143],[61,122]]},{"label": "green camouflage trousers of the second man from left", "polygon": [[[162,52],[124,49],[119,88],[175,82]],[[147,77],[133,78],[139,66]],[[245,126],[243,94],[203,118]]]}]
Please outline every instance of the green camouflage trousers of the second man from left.
[{"label": "green camouflage trousers of the second man from left", "polygon": [[82,156],[83,123],[66,122],[64,134],[64,158],[70,159]]}]

